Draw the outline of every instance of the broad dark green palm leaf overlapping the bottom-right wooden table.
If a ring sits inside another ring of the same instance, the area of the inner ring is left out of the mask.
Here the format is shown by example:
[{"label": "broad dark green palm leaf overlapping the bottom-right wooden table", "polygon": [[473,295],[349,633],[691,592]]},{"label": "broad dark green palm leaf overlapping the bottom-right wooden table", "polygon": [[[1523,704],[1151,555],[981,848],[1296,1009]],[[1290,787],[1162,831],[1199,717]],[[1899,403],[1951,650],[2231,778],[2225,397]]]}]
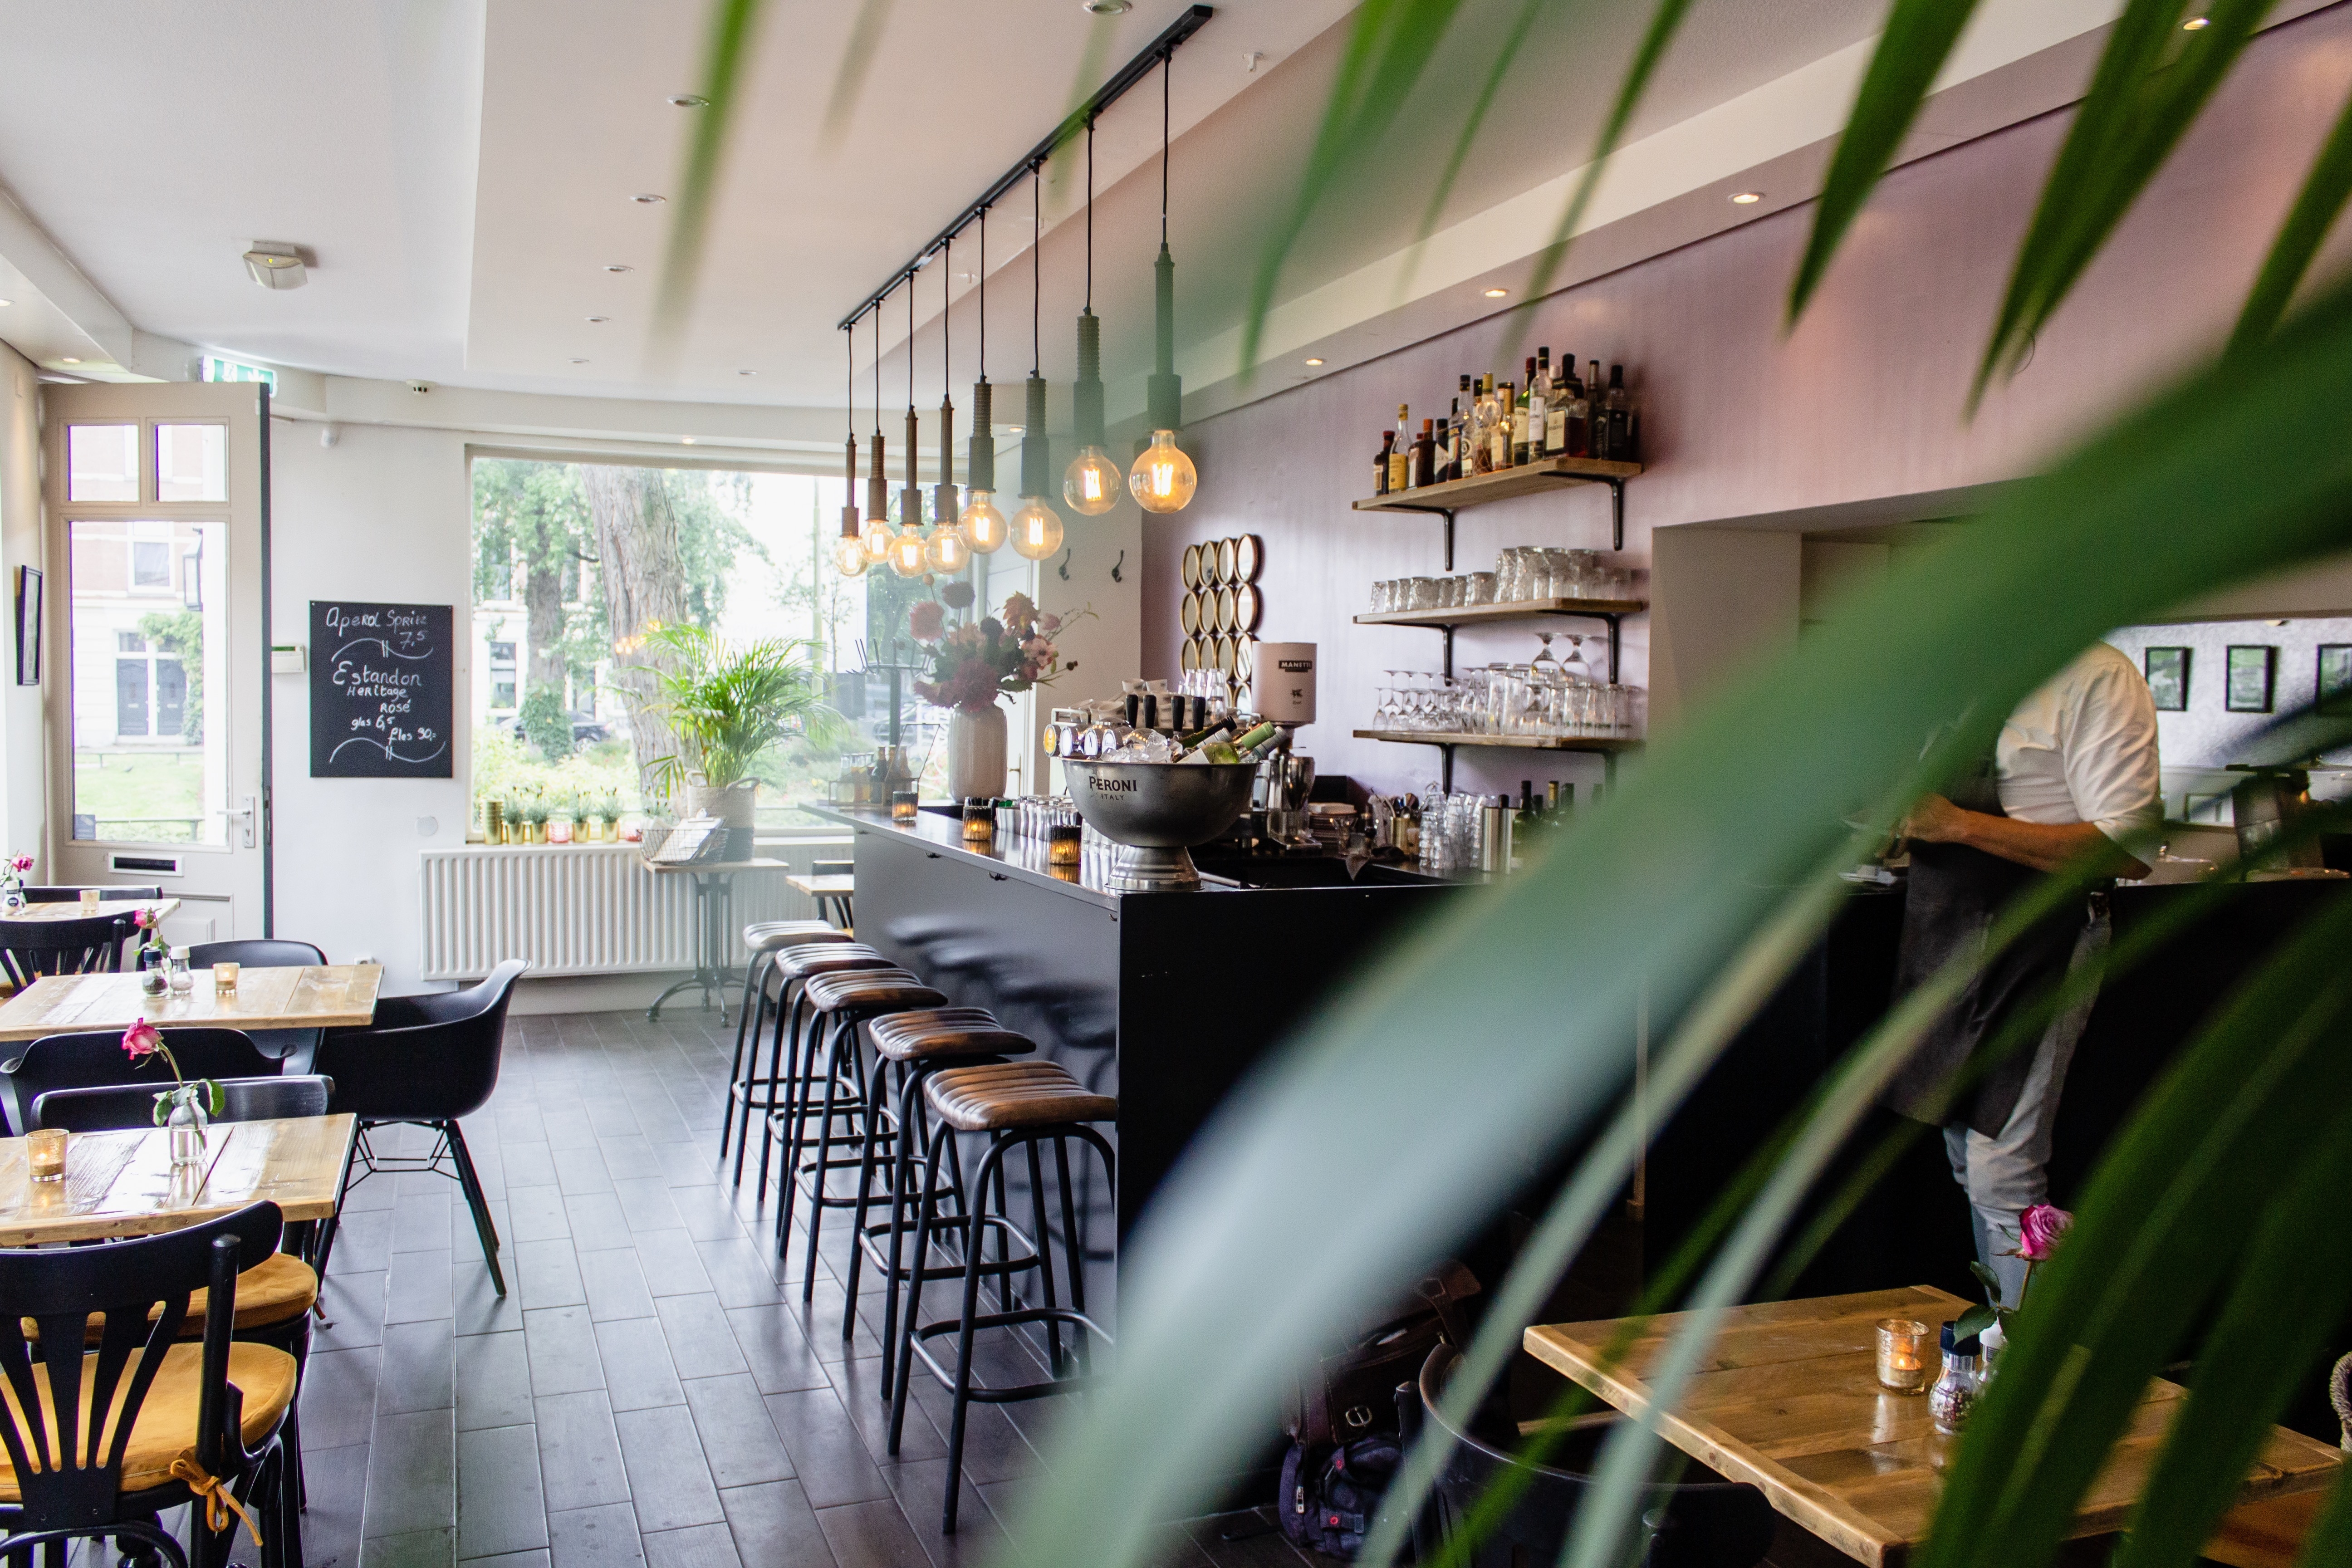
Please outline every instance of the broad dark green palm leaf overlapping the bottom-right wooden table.
[{"label": "broad dark green palm leaf overlapping the bottom-right wooden table", "polygon": [[2279,1150],[2352,1093],[2352,900],[2314,919],[2201,1032],[2100,1161],[1969,1420],[1924,1568],[2039,1568],[2110,1443],[2223,1281]]}]

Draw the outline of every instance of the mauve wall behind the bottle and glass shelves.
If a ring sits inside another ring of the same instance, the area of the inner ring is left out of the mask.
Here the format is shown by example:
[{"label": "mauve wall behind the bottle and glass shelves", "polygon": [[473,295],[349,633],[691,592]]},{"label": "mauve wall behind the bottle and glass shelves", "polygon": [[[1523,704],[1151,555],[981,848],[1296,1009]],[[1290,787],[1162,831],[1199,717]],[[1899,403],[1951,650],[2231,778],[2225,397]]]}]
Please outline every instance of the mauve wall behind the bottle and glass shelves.
[{"label": "mauve wall behind the bottle and glass shelves", "polygon": [[[1795,334],[1783,336],[1780,313],[1811,207],[1538,301],[1519,355],[1550,343],[1555,355],[1628,367],[1649,473],[1625,489],[1625,559],[1644,571],[1651,529],[2030,473],[2218,341],[2347,82],[2352,7],[2258,40],[2044,331],[2032,364],[1973,421],[1962,418],[1969,376],[2065,115],[1896,169]],[[1176,672],[1183,548],[1258,534],[1258,637],[1319,644],[1319,722],[1301,750],[1322,771],[1376,790],[1435,778],[1435,750],[1348,731],[1369,724],[1383,670],[1437,668],[1437,632],[1352,625],[1350,616],[1374,578],[1439,569],[1439,524],[1352,512],[1348,501],[1369,494],[1371,458],[1399,400],[1418,421],[1444,411],[1461,371],[1519,378],[1517,357],[1501,362],[1508,329],[1501,317],[1472,324],[1195,425],[1200,496],[1143,524],[1145,672]],[[2194,435],[2183,430],[2183,440]],[[1512,543],[1606,548],[1606,520],[1609,494],[1597,487],[1475,508],[1461,515],[1456,569],[1491,567]],[[1463,632],[1456,665],[1534,649],[1519,625]],[[1625,628],[1625,679],[1649,682],[1646,618]],[[1590,757],[1463,750],[1456,788],[1597,776]]]}]

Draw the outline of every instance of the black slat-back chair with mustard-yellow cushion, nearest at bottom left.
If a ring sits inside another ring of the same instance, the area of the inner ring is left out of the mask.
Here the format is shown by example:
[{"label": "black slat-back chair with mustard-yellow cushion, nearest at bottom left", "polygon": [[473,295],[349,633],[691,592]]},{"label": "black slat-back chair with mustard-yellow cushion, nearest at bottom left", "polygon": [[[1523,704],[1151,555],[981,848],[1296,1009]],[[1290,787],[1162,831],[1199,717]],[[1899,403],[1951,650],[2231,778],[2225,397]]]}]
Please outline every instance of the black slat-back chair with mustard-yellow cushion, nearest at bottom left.
[{"label": "black slat-back chair with mustard-yellow cushion, nearest at bottom left", "polygon": [[[294,1356],[230,1342],[238,1260],[270,1255],[278,1229],[278,1204],[252,1204],[136,1241],[0,1251],[0,1375],[14,1394],[0,1401],[0,1556],[31,1563],[42,1547],[61,1566],[68,1542],[113,1537],[174,1568],[216,1568],[235,1526],[226,1493],[266,1521],[263,1568],[301,1568],[282,1443]],[[195,1291],[200,1345],[181,1338]],[[115,1415],[85,1427],[87,1410]],[[183,1505],[193,1552],[155,1521]]]}]

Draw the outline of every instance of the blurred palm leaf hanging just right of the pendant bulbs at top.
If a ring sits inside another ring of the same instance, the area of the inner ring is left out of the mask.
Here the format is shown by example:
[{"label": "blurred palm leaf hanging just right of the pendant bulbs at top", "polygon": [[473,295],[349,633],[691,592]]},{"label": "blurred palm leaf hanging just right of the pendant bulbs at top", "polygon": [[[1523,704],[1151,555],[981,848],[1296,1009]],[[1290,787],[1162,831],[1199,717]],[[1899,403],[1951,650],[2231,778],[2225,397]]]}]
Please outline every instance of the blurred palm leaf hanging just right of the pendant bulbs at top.
[{"label": "blurred palm leaf hanging just right of the pendant bulbs at top", "polygon": [[1275,303],[1282,261],[1308,226],[1315,205],[1331,193],[1338,176],[1378,148],[1397,110],[1421,80],[1430,54],[1454,24],[1461,0],[1364,0],[1348,24],[1348,47],[1341,54],[1331,101],[1324,106],[1315,146],[1308,150],[1298,195],[1265,237],[1258,270],[1249,284],[1249,310],[1242,320],[1242,374],[1258,360],[1265,313]]}]

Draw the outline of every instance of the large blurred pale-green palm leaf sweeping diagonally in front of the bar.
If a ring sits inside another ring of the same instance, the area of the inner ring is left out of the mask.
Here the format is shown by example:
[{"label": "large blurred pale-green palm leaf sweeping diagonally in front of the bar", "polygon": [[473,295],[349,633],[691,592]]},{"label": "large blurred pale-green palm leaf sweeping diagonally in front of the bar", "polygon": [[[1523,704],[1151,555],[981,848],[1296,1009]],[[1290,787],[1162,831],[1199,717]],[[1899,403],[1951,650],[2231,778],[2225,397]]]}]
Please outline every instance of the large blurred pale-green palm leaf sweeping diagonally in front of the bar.
[{"label": "large blurred pale-green palm leaf sweeping diagonally in front of the bar", "polygon": [[[1922,736],[1973,705],[1992,717],[1962,729],[1983,741],[2105,628],[2352,538],[2352,299],[2253,350],[2227,404],[2209,374],[1759,661],[1557,853],[1390,952],[1204,1128],[1131,1237],[1120,1380],[1063,1422],[1016,1530],[1037,1559],[1136,1561],[1141,1521],[1185,1512],[1263,1429],[1338,1302],[1388,1298],[1477,1225],[1517,1180],[1496,1150],[1548,1150],[1623,1086],[1637,976],[1679,1016]],[[2201,440],[2178,440],[2192,421]]]}]

